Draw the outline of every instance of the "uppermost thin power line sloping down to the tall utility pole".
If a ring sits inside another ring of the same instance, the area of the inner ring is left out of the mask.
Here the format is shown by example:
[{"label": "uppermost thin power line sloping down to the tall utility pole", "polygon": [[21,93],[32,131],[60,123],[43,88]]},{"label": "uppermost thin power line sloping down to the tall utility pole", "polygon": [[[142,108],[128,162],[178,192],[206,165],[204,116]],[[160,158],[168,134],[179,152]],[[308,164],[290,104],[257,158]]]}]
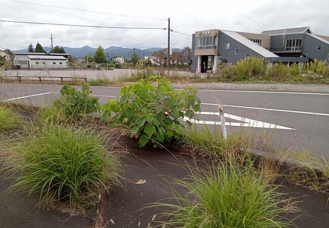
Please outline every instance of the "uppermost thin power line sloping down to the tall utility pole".
[{"label": "uppermost thin power line sloping down to the tall utility pole", "polygon": [[25,1],[17,1],[17,0],[8,0],[8,1],[14,2],[14,3],[35,5],[35,6],[52,7],[52,8],[58,8],[58,9],[63,9],[63,10],[75,10],[75,11],[80,11],[80,12],[94,13],[94,14],[104,14],[104,15],[111,15],[111,16],[118,16],[118,17],[130,17],[130,18],[145,19],[145,20],[168,21],[167,18],[151,18],[151,17],[132,16],[132,15],[125,15],[125,14],[110,14],[110,13],[99,12],[99,11],[84,10],[84,9],[62,7],[62,6],[55,6],[55,5],[46,5],[46,4],[39,4],[39,3],[31,3],[31,2],[25,2]]}]

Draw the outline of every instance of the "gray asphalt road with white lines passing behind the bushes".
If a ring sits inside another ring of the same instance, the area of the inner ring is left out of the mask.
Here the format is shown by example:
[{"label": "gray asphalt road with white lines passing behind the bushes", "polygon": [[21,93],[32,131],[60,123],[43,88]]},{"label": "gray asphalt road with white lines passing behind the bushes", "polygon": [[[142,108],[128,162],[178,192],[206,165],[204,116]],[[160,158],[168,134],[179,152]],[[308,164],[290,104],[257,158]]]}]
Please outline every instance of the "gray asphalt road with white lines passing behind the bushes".
[{"label": "gray asphalt road with white lines passing behind the bushes", "polygon": [[[0,100],[43,106],[59,96],[61,86],[1,84]],[[119,88],[92,87],[100,102],[117,96]],[[308,148],[329,156],[329,93],[251,90],[199,90],[202,101],[198,126],[218,124],[218,104],[224,105],[226,124],[236,131],[267,132],[274,144],[284,148]],[[204,121],[204,122],[203,122]]]}]

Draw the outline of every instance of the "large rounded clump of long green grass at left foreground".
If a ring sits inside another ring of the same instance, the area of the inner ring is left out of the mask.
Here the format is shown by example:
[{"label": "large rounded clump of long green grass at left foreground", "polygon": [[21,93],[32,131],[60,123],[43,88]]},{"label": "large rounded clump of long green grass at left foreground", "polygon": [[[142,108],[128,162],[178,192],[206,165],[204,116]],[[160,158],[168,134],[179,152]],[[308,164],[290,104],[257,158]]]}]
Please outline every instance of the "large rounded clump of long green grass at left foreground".
[{"label": "large rounded clump of long green grass at left foreground", "polygon": [[45,125],[13,148],[3,170],[15,179],[9,192],[37,192],[40,204],[88,202],[119,183],[120,163],[96,130]]}]

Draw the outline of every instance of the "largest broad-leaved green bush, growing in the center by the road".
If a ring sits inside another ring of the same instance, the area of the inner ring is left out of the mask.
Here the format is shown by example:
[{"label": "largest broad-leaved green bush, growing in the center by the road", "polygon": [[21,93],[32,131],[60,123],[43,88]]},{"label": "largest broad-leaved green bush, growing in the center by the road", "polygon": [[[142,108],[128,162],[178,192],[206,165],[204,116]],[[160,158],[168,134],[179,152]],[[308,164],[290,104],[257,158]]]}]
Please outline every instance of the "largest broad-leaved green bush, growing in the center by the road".
[{"label": "largest broad-leaved green bush, growing in the center by the road", "polygon": [[194,112],[200,110],[201,101],[196,94],[196,88],[187,86],[175,91],[165,77],[152,76],[122,87],[120,99],[103,105],[103,118],[111,117],[113,112],[110,122],[127,125],[131,129],[130,136],[139,138],[141,147],[148,142],[159,147],[161,143],[179,138],[184,126],[180,120],[192,118]]}]

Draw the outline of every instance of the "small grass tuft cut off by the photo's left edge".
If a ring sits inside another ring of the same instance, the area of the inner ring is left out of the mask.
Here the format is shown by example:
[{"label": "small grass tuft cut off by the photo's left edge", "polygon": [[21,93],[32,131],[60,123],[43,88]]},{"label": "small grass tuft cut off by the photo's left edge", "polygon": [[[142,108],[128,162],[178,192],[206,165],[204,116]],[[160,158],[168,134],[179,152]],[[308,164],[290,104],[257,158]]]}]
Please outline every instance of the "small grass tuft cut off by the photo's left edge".
[{"label": "small grass tuft cut off by the photo's left edge", "polygon": [[20,122],[21,118],[10,106],[0,104],[0,132],[16,128]]}]

